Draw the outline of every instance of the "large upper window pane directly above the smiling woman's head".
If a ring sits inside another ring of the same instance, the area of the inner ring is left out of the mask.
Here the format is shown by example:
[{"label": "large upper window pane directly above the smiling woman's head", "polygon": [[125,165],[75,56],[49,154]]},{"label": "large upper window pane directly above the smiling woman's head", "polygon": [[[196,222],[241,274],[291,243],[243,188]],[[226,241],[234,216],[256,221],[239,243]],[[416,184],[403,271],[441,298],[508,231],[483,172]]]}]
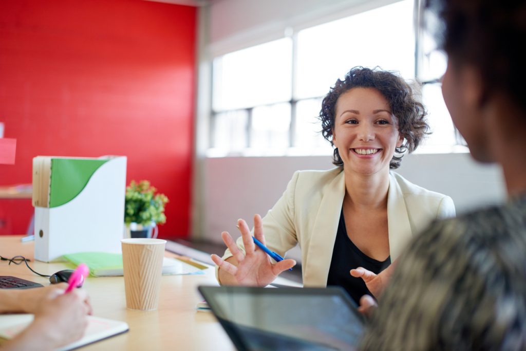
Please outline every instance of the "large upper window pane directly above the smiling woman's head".
[{"label": "large upper window pane directly above the smiling woman's head", "polygon": [[298,33],[296,98],[323,96],[354,66],[414,77],[413,1],[404,0]]}]

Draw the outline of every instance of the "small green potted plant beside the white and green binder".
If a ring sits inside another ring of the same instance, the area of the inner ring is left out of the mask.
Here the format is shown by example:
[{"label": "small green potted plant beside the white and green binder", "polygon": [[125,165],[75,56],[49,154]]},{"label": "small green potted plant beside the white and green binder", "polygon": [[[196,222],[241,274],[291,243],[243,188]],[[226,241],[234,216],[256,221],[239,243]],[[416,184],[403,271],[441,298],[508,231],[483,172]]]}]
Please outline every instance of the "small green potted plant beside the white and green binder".
[{"label": "small green potted plant beside the white and green binder", "polygon": [[[148,180],[136,183],[131,180],[126,187],[124,202],[124,224],[126,237],[157,237],[157,224],[164,224],[168,197],[156,194],[157,189]],[[155,232],[154,232],[155,229]]]}]

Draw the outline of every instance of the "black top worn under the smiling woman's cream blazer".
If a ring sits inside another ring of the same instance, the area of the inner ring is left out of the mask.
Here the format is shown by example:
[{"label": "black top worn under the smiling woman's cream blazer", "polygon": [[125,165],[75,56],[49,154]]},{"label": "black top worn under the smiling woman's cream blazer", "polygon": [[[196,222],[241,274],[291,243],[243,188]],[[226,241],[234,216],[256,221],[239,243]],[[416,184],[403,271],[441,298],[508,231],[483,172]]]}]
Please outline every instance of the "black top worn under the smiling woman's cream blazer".
[{"label": "black top worn under the smiling woman's cream blazer", "polygon": [[345,228],[345,219],[343,218],[343,209],[340,214],[340,223],[334,248],[332,249],[332,259],[330,262],[329,276],[327,277],[327,286],[339,285],[347,290],[347,293],[359,305],[360,297],[365,294],[372,295],[367,289],[362,278],[355,278],[350,275],[352,268],[363,267],[373,273],[380,273],[383,269],[391,264],[391,256],[385,261],[380,262],[374,258],[362,253],[360,249],[347,236]]}]

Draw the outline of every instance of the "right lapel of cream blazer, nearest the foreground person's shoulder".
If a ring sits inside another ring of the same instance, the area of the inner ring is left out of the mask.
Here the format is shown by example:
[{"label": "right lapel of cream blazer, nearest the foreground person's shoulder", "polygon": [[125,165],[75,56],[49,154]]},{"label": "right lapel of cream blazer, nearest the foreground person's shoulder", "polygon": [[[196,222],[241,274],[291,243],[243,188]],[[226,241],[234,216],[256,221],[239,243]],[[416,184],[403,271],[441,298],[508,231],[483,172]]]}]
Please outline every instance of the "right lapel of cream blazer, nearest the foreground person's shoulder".
[{"label": "right lapel of cream blazer, nearest the foreground person's shoulder", "polygon": [[387,195],[387,223],[389,251],[391,262],[393,262],[411,240],[412,233],[402,190],[391,173],[389,173],[389,192]]}]

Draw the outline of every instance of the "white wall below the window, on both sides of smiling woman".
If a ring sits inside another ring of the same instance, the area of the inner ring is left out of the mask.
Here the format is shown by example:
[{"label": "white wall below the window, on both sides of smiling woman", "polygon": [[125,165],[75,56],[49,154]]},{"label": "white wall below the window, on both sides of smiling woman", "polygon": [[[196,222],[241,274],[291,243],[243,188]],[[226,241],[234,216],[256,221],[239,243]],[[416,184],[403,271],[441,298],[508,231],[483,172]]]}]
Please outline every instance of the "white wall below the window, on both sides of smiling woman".
[{"label": "white wall below the window, on both sides of smiling woman", "polygon": [[[203,237],[221,242],[227,230],[239,236],[238,218],[252,224],[265,215],[298,169],[332,168],[330,156],[207,158],[204,166]],[[469,154],[407,155],[397,171],[411,182],[453,198],[457,213],[505,198],[501,170],[481,165]]]}]

